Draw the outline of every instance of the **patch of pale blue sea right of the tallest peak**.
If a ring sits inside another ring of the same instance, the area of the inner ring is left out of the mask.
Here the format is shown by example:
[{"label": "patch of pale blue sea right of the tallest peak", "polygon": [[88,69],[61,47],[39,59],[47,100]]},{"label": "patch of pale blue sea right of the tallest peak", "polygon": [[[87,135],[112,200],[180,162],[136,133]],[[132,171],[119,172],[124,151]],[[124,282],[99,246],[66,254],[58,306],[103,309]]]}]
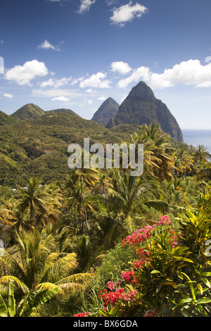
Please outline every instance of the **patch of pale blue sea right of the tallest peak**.
[{"label": "patch of pale blue sea right of the tallest peak", "polygon": [[211,154],[211,130],[181,130],[183,133],[184,142],[188,145],[204,145],[207,151]]}]

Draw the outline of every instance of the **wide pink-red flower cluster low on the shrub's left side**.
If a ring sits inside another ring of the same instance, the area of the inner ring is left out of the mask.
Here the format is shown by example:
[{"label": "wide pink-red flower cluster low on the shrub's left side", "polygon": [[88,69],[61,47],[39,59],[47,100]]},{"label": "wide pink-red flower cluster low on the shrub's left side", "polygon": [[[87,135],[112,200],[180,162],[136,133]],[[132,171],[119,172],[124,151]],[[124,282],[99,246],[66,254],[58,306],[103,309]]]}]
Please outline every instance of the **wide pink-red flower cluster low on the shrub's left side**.
[{"label": "wide pink-red flower cluster low on the shrub's left side", "polygon": [[103,292],[100,292],[101,294],[99,297],[103,298],[104,300],[104,307],[107,307],[109,304],[113,304],[115,306],[117,304],[117,301],[134,301],[136,298],[137,290],[135,289],[133,292],[128,291],[125,292],[125,289],[121,287],[120,289],[117,289],[115,292],[107,292],[106,289],[103,290]]}]

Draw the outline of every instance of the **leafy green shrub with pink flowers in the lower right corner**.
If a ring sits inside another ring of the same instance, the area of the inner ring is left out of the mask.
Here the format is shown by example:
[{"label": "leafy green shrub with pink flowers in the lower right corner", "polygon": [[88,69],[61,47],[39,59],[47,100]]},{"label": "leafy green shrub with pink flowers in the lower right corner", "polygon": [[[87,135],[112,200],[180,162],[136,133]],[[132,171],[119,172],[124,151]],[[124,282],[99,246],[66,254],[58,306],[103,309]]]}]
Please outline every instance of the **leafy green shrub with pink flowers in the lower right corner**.
[{"label": "leafy green shrub with pink flowers in the lower right corner", "polygon": [[207,239],[211,239],[207,208],[188,212],[177,228],[162,216],[158,223],[127,236],[122,249],[134,258],[125,264],[122,280],[107,282],[99,294],[102,316],[211,316]]}]

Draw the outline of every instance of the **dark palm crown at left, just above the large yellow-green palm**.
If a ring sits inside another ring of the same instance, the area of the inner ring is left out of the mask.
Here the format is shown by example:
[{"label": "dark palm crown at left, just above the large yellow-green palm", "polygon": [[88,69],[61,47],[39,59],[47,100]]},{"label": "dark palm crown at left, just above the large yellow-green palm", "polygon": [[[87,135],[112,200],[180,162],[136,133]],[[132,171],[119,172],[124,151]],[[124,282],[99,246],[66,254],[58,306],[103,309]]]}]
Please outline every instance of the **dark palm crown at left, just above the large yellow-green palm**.
[{"label": "dark palm crown at left, just above the large yellow-green palm", "polygon": [[48,220],[56,222],[60,211],[59,207],[60,196],[53,196],[51,190],[46,185],[41,185],[41,181],[37,178],[31,178],[28,181],[27,187],[19,187],[20,204],[18,206],[20,213],[29,212],[30,224],[34,223],[34,228],[37,229],[39,222]]}]

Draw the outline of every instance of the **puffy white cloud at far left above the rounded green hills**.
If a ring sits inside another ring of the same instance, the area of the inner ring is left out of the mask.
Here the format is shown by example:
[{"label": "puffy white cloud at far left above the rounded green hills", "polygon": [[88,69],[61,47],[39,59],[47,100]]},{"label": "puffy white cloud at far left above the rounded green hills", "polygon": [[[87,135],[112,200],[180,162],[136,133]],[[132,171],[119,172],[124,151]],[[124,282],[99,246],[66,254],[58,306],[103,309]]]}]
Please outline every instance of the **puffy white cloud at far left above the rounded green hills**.
[{"label": "puffy white cloud at far left above the rounded green hills", "polygon": [[4,75],[6,80],[17,82],[18,85],[30,85],[31,80],[43,77],[49,73],[44,62],[37,60],[27,61],[24,65],[15,65]]}]

